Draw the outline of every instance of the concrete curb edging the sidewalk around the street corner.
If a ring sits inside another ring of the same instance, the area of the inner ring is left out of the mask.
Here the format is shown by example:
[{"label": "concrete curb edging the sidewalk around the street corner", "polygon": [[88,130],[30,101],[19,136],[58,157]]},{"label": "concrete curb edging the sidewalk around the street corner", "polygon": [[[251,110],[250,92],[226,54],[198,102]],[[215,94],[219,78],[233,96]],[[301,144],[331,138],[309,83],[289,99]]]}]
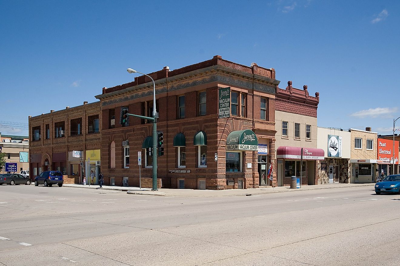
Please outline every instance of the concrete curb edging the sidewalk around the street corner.
[{"label": "concrete curb edging the sidewalk around the street corner", "polygon": [[276,191],[262,191],[262,192],[248,192],[248,193],[239,193],[232,195],[171,195],[171,194],[159,194],[159,193],[145,193],[145,192],[133,192],[128,191],[127,194],[132,195],[145,195],[145,196],[170,196],[170,197],[229,197],[229,196],[250,196],[250,195],[259,195],[259,194],[271,194],[271,193],[282,193],[282,192],[294,192],[294,191],[306,191],[306,190],[318,190],[318,189],[336,189],[336,188],[352,188],[352,187],[372,187],[375,184],[365,184],[365,185],[354,185],[354,186],[346,186],[346,187],[318,187],[318,188],[301,188],[301,189],[287,189],[287,190],[276,190]]}]

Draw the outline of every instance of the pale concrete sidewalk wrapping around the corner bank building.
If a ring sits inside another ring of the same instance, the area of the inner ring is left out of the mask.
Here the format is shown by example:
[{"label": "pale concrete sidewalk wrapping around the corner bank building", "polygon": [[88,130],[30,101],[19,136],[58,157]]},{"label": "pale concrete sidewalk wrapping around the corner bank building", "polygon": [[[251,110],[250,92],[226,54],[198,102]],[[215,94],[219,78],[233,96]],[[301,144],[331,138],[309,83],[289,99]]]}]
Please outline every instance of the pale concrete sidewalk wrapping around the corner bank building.
[{"label": "pale concrete sidewalk wrapping around the corner bank building", "polygon": [[87,189],[101,189],[101,190],[114,190],[114,191],[127,191],[128,194],[136,195],[150,195],[150,196],[181,196],[181,197],[216,197],[216,196],[244,196],[244,195],[257,195],[267,193],[280,193],[290,191],[303,191],[314,189],[334,189],[343,187],[371,187],[375,183],[366,184],[324,184],[324,185],[303,185],[301,189],[290,189],[289,187],[265,187],[265,188],[249,188],[249,189],[224,189],[224,190],[208,190],[208,189],[168,189],[162,188],[157,191],[151,191],[150,188],[139,187],[117,187],[117,186],[104,186],[99,185],[80,185],[80,184],[64,184],[64,187],[79,187]]}]

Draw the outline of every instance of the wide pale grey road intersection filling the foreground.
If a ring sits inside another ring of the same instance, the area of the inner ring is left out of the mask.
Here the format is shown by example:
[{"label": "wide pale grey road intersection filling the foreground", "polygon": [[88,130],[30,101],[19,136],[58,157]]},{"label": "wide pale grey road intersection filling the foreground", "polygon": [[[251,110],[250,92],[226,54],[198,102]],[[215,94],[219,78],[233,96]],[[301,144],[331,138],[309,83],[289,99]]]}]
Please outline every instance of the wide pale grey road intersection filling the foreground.
[{"label": "wide pale grey road intersection filling the foreground", "polygon": [[400,265],[400,195],[372,187],[160,197],[0,186],[0,266]]}]

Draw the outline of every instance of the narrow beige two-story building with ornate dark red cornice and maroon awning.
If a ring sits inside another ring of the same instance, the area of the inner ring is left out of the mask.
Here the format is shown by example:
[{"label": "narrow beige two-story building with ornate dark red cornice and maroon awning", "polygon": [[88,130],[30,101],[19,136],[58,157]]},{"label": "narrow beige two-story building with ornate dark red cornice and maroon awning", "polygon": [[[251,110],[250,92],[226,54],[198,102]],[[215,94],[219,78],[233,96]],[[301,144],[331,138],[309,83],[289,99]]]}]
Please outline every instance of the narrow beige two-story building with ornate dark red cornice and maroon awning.
[{"label": "narrow beige two-story building with ornate dark red cornice and maroon awning", "polygon": [[[316,185],[319,181],[318,161],[324,160],[324,150],[317,148],[317,108],[319,93],[315,97],[303,89],[292,87],[276,90],[276,163],[277,185],[290,185],[290,177],[300,177],[302,185]],[[301,165],[301,149],[303,162]]]}]

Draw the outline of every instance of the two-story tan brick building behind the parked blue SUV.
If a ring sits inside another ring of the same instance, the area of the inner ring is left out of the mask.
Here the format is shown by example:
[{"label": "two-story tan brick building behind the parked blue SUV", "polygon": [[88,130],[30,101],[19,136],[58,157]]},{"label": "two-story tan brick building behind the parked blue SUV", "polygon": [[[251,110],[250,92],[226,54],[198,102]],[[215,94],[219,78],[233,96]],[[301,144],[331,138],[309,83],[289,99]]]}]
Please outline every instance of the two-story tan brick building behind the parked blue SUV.
[{"label": "two-story tan brick building behind the parked blue SUV", "polygon": [[[58,170],[64,183],[82,183],[93,171],[93,182],[100,173],[100,102],[29,116],[30,178],[42,171]],[[90,158],[90,160],[88,160]]]}]

